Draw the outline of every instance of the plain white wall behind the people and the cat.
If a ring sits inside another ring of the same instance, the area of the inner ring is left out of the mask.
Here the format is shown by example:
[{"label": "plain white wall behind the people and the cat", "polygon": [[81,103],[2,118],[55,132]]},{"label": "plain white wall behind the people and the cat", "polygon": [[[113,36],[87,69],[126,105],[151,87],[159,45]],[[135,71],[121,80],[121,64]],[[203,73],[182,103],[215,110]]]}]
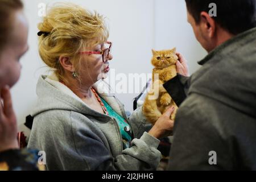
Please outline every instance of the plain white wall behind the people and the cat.
[{"label": "plain white wall behind the people and the cat", "polygon": [[[24,0],[25,13],[30,24],[28,44],[30,50],[22,58],[22,76],[11,90],[19,128],[27,133],[22,125],[26,115],[36,103],[36,82],[39,75],[47,73],[38,55],[37,24],[42,19],[38,16],[39,3],[52,5],[48,0]],[[108,17],[110,27],[109,40],[113,42],[114,59],[110,68],[118,73],[151,73],[151,48],[164,49],[177,47],[189,60],[192,72],[198,68],[196,61],[203,58],[205,52],[196,42],[192,28],[187,23],[184,1],[180,0],[74,0],[69,1],[97,10]],[[112,71],[113,71],[112,70]],[[118,80],[116,81],[118,82]],[[139,85],[138,85],[139,86]],[[142,89],[144,85],[139,87]],[[141,90],[140,89],[140,90]],[[117,94],[126,109],[133,110],[133,98],[138,93]]]}]

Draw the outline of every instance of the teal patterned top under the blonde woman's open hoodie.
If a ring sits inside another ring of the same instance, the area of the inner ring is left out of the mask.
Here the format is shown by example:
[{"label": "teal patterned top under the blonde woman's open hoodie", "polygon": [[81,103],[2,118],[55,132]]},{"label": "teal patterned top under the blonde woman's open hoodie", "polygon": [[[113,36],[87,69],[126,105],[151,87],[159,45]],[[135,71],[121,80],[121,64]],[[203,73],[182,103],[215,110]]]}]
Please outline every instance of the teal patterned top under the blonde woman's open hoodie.
[{"label": "teal patterned top under the blonde woman's open hoodie", "polygon": [[120,129],[120,133],[122,135],[122,139],[123,139],[123,150],[125,148],[130,148],[131,146],[131,140],[133,139],[131,137],[131,127],[129,125],[129,123],[127,123],[127,121],[125,121],[125,119],[123,117],[121,117],[121,115],[117,114],[116,111],[114,111],[114,109],[112,109],[112,107],[108,104],[108,102],[106,102],[102,97],[101,100],[104,104],[104,106],[106,107],[106,110],[109,113],[110,117],[113,117],[117,120],[119,129]]}]

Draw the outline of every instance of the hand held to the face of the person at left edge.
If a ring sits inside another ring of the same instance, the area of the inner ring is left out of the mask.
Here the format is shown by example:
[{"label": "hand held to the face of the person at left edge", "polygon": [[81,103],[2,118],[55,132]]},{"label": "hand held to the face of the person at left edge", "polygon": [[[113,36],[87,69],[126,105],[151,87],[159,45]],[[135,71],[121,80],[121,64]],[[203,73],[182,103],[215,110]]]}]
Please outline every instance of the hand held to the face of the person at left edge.
[{"label": "hand held to the face of the person at left edge", "polygon": [[1,90],[1,99],[3,104],[0,104],[0,152],[19,148],[17,123],[9,86]]}]

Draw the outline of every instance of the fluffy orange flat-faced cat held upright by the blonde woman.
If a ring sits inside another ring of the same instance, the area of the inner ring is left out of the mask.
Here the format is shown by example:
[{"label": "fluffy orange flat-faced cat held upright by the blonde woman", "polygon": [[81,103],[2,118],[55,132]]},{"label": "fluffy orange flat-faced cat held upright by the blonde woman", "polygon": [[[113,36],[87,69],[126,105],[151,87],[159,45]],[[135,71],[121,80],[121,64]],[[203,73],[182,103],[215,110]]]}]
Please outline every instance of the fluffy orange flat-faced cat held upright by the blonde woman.
[{"label": "fluffy orange flat-faced cat held upright by the blonde woman", "polygon": [[171,119],[175,118],[177,105],[171,96],[164,89],[164,82],[171,80],[177,75],[176,72],[176,48],[163,51],[152,49],[151,64],[155,67],[152,72],[152,89],[146,96],[143,104],[143,114],[153,125],[158,118],[171,105],[175,106],[175,111]]}]

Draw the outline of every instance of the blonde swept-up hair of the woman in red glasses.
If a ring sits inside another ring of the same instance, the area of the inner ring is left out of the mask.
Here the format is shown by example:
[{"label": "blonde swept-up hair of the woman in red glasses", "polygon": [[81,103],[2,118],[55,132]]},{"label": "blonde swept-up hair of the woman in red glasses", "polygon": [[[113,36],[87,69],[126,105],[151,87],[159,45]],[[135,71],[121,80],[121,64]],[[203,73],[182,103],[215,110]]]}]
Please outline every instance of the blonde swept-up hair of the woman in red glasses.
[{"label": "blonde swept-up hair of the woman in red glasses", "polygon": [[99,44],[105,42],[109,36],[102,15],[73,4],[53,6],[43,22],[38,24],[38,28],[42,34],[39,34],[40,57],[63,81],[64,68],[59,62],[60,56],[69,57],[75,67],[74,71],[79,72],[79,52],[88,44],[92,44],[92,40]]}]

